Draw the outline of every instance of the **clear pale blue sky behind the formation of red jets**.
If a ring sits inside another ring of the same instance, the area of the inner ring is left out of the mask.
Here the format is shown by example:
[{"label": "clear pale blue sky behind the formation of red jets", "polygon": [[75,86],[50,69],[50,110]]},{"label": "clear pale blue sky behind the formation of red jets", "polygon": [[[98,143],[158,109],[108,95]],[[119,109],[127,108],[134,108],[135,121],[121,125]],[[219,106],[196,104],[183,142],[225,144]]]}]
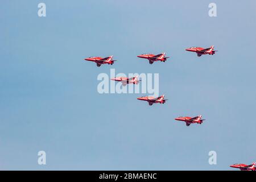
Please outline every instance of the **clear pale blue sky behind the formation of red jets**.
[{"label": "clear pale blue sky behind the formation of red jets", "polygon": [[[47,16],[38,17],[38,3]],[[208,16],[210,2],[217,17]],[[256,160],[255,1],[2,1],[0,169],[230,170]],[[214,56],[184,51],[214,45]],[[148,64],[141,53],[167,52]],[[114,65],[82,59],[114,55]],[[98,94],[97,75],[159,73],[164,105]],[[180,115],[202,114],[185,126]],[[47,153],[39,166],[38,151]],[[217,152],[217,165],[208,152]]]}]

